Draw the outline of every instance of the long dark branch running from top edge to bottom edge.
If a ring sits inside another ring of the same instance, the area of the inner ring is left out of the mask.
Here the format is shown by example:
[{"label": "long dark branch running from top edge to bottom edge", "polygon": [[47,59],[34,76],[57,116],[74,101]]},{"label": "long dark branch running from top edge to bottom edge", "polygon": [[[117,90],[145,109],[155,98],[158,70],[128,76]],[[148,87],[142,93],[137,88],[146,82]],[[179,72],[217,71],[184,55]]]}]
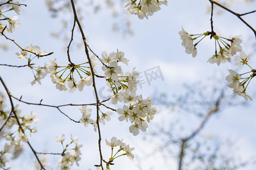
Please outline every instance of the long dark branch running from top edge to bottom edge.
[{"label": "long dark branch running from top edge to bottom edge", "polygon": [[88,62],[89,62],[89,65],[90,65],[90,70],[91,70],[91,73],[92,73],[93,88],[94,88],[94,92],[95,92],[95,96],[96,96],[96,110],[97,110],[96,123],[97,123],[97,126],[98,126],[98,150],[100,152],[100,167],[103,169],[103,166],[102,166],[103,158],[102,158],[102,153],[101,153],[101,131],[100,131],[100,124],[99,124],[99,120],[98,120],[98,118],[99,118],[99,112],[98,111],[99,111],[100,100],[98,99],[98,94],[97,94],[97,88],[96,88],[96,83],[95,83],[95,73],[94,73],[94,70],[93,70],[92,62],[90,61],[90,56],[89,56],[89,51],[88,51],[88,46],[87,46],[87,43],[86,43],[84,31],[82,30],[82,26],[81,26],[81,24],[79,22],[79,19],[77,17],[76,8],[75,8],[75,4],[74,4],[73,0],[71,0],[71,5],[72,5],[74,18],[76,20],[77,25],[79,26],[79,30],[81,32],[82,40],[84,41],[85,54],[86,54],[86,57],[88,59]]}]

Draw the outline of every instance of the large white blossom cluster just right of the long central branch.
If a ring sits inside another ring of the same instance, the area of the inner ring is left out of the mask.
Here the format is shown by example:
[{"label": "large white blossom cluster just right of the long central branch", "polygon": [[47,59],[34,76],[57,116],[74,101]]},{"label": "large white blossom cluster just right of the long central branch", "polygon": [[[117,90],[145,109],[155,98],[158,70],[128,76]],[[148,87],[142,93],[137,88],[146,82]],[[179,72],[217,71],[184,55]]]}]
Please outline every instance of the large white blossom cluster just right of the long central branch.
[{"label": "large white blossom cluster just right of the long central branch", "polygon": [[128,60],[124,58],[124,55],[118,50],[109,55],[102,52],[100,60],[105,64],[102,66],[102,70],[105,71],[104,77],[110,87],[109,91],[113,92],[110,103],[117,104],[118,101],[125,103],[122,109],[117,109],[118,114],[121,114],[118,118],[119,121],[129,120],[132,124],[129,128],[130,133],[138,135],[139,130],[146,131],[148,128],[147,122],[154,118],[156,108],[152,107],[150,97],[143,99],[142,95],[136,95],[138,71],[133,69],[131,73],[128,72],[123,75],[118,63],[123,62],[127,65]]}]

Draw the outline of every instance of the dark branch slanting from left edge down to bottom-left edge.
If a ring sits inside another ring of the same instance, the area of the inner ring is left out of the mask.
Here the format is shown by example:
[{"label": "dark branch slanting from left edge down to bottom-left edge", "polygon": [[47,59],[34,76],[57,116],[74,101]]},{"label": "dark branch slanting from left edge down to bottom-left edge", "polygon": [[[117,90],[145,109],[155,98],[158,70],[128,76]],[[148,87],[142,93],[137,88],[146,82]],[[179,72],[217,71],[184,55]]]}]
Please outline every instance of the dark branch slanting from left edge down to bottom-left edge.
[{"label": "dark branch slanting from left edge down to bottom-left edge", "polygon": [[[22,131],[23,134],[25,134],[25,133],[24,133],[24,130],[23,130],[23,128],[22,128],[22,125],[21,125],[20,122],[19,122],[19,118],[18,118],[18,116],[17,116],[17,114],[16,114],[15,107],[14,107],[14,104],[13,104],[13,100],[11,99],[11,92],[8,90],[6,84],[5,84],[5,82],[3,81],[3,79],[1,78],[1,76],[0,76],[0,81],[1,81],[1,83],[3,84],[3,87],[5,88],[5,91],[6,91],[7,95],[9,96],[10,103],[11,103],[11,113],[14,114],[14,116],[15,116],[15,118],[16,118],[16,121],[17,121],[17,123],[18,123],[18,125],[19,125],[19,129]],[[36,160],[38,160],[38,163],[40,164],[41,169],[44,169],[42,163],[40,162],[40,160],[39,160],[39,158],[38,158],[38,155],[36,155],[36,151],[35,151],[34,148],[31,146],[31,144],[30,144],[30,142],[29,142],[28,140],[27,140],[27,144],[28,144],[28,146],[31,148],[32,152],[34,153],[34,155],[35,155],[35,157],[36,157]],[[44,169],[44,170],[46,170],[46,169]]]}]

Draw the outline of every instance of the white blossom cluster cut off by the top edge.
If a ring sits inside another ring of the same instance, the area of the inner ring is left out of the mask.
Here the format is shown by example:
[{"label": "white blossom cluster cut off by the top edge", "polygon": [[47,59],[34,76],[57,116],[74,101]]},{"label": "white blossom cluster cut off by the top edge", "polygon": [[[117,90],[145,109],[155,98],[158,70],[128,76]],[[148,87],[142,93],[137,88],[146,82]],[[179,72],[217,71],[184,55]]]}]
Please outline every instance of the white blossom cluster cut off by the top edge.
[{"label": "white blossom cluster cut off by the top edge", "polygon": [[128,1],[127,10],[130,14],[138,15],[139,19],[147,18],[154,14],[154,12],[159,11],[160,5],[166,5],[167,1],[158,1],[158,0],[126,0]]}]

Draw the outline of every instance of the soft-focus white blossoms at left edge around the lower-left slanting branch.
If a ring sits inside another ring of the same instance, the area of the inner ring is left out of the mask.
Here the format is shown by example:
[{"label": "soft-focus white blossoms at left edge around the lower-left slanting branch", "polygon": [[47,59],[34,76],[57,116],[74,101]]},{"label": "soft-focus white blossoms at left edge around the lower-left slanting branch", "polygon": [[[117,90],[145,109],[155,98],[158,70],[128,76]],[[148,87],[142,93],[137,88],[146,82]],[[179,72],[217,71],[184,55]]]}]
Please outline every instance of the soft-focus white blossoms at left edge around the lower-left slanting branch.
[{"label": "soft-focus white blossoms at left edge around the lower-left slanting branch", "polygon": [[[0,122],[1,126],[5,124],[5,131],[3,133],[3,137],[5,137],[6,141],[10,141],[9,143],[5,143],[5,146],[1,148],[0,151],[0,167],[5,168],[6,163],[9,162],[9,155],[12,155],[12,158],[17,158],[21,152],[23,151],[23,143],[27,143],[28,139],[32,133],[36,133],[36,128],[31,128],[32,122],[38,122],[38,118],[35,117],[36,113],[31,112],[30,115],[22,116],[20,114],[20,110],[17,109],[18,105],[16,105],[13,112],[5,111],[5,97],[0,92]],[[10,116],[9,116],[10,115]],[[16,120],[18,117],[20,126]],[[18,126],[18,127],[17,127]],[[30,132],[30,135],[26,135],[26,131]],[[6,168],[5,168],[6,169]]]}]

